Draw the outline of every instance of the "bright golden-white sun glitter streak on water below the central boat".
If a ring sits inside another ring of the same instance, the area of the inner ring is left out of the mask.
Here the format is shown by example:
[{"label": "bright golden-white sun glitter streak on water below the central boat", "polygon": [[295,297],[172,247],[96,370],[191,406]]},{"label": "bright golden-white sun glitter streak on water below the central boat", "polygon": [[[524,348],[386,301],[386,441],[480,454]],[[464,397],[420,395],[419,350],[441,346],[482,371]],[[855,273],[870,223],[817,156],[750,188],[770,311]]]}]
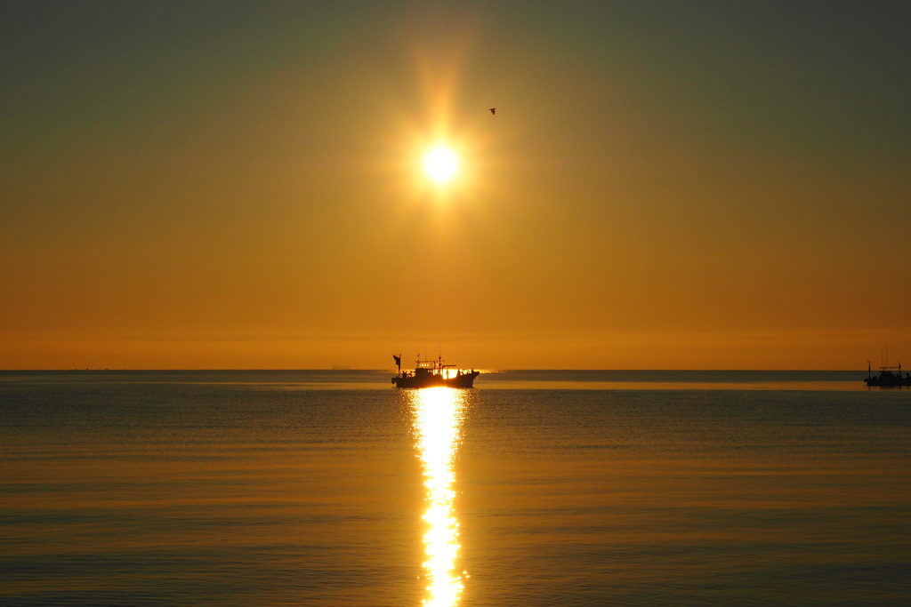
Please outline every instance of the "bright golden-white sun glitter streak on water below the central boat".
[{"label": "bright golden-white sun glitter streak on water below the central boat", "polygon": [[427,607],[455,607],[462,593],[461,574],[455,573],[458,557],[458,521],[453,500],[455,452],[461,440],[464,394],[451,388],[409,390],[415,446],[424,467],[426,506],[424,520],[424,569]]}]

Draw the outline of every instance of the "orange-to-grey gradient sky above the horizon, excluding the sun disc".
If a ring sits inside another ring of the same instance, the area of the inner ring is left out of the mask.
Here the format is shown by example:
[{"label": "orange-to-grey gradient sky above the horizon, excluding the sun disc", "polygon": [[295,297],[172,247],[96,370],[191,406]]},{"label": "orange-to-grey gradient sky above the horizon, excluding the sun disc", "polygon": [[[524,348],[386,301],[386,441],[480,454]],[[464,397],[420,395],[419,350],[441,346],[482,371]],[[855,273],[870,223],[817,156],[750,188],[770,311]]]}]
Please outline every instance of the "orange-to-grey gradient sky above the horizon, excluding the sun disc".
[{"label": "orange-to-grey gradient sky above the horizon, excluding the sun disc", "polygon": [[0,368],[911,368],[909,31],[907,2],[5,3]]}]

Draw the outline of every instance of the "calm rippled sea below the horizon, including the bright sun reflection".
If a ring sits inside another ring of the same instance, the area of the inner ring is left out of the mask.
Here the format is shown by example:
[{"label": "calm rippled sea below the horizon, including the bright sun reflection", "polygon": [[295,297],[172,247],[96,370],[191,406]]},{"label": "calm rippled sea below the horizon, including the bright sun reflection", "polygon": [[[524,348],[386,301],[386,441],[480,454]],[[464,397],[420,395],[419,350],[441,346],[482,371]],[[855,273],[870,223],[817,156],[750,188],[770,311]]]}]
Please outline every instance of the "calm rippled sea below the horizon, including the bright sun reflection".
[{"label": "calm rippled sea below the horizon, including the bright sun reflection", "polygon": [[0,372],[0,604],[907,604],[909,389],[389,375]]}]

